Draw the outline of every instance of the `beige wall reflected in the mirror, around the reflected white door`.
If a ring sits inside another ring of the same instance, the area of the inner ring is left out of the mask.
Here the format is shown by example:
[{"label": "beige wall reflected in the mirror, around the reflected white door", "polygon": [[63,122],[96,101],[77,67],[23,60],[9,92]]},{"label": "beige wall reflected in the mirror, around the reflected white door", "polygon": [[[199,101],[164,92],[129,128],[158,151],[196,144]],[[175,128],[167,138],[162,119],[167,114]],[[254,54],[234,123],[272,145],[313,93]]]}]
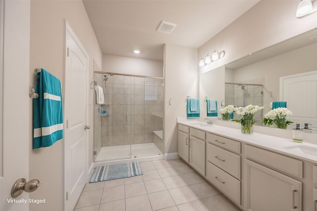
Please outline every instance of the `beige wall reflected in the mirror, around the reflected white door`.
[{"label": "beige wall reflected in the mirror, around the reflected white door", "polygon": [[[279,77],[317,70],[317,43],[236,69],[234,82],[264,78],[264,114],[279,101]],[[269,91],[273,94],[270,96]]]}]

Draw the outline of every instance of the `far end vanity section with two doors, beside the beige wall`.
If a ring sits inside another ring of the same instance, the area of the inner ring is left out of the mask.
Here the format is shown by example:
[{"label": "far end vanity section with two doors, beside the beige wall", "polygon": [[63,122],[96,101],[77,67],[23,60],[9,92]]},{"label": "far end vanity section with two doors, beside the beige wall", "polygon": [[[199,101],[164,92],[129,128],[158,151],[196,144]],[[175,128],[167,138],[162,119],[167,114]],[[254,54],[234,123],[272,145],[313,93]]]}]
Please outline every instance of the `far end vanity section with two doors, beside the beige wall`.
[{"label": "far end vanity section with two doors, beside the beige wall", "polygon": [[203,176],[206,172],[205,139],[205,131],[178,125],[178,155]]}]

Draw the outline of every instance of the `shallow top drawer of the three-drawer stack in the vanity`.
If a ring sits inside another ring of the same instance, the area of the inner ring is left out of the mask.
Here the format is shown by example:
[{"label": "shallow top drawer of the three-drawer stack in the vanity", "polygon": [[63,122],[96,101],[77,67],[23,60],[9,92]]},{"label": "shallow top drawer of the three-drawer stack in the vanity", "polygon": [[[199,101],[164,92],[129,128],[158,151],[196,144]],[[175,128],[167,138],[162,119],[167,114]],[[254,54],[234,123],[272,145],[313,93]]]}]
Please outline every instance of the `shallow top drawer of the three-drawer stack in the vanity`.
[{"label": "shallow top drawer of the three-drawer stack in the vanity", "polygon": [[241,153],[241,143],[219,135],[207,133],[207,141],[232,152]]}]

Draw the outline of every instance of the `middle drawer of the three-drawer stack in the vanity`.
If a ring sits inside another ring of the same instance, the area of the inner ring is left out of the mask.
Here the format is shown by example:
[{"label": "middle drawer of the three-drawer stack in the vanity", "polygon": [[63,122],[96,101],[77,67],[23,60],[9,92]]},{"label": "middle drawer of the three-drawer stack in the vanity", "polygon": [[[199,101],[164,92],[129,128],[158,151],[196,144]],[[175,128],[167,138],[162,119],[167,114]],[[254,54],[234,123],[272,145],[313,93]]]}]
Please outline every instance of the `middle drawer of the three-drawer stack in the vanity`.
[{"label": "middle drawer of the three-drawer stack in the vanity", "polygon": [[207,160],[237,179],[241,179],[241,157],[208,143]]}]

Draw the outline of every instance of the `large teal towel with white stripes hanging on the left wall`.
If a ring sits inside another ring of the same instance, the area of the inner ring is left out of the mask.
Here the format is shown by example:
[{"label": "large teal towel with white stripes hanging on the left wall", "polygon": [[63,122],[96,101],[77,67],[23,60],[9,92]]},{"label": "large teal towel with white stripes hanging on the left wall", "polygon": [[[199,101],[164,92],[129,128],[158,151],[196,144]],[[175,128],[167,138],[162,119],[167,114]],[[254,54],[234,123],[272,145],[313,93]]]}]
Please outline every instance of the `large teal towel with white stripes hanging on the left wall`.
[{"label": "large teal towel with white stripes hanging on the left wall", "polygon": [[37,73],[33,99],[33,149],[48,147],[63,138],[63,112],[60,81],[41,68]]}]

